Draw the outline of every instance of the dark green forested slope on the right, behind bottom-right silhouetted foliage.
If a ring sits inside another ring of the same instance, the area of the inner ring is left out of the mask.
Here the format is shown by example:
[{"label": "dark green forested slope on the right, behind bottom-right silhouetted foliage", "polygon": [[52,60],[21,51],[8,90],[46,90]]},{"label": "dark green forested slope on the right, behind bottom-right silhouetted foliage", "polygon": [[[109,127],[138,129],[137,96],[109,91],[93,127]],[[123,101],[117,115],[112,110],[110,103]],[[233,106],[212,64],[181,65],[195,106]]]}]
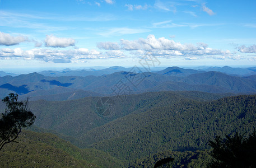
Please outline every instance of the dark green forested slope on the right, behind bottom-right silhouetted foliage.
[{"label": "dark green forested slope on the right, behind bottom-right silhouetted foliage", "polygon": [[210,102],[180,100],[119,118],[81,139],[91,142],[88,147],[134,160],[166,150],[203,150],[216,135],[244,133],[255,124],[256,95]]}]

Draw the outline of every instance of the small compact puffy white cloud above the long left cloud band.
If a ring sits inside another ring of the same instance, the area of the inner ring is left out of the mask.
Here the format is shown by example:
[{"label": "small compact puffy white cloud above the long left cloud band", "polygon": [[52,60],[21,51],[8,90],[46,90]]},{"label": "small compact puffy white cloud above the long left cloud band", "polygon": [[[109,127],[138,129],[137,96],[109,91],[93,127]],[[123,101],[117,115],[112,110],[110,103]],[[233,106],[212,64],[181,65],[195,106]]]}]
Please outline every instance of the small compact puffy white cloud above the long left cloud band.
[{"label": "small compact puffy white cloud above the long left cloud band", "polygon": [[75,46],[76,40],[72,38],[57,38],[54,35],[46,35],[44,43],[45,46],[66,48],[68,46]]}]

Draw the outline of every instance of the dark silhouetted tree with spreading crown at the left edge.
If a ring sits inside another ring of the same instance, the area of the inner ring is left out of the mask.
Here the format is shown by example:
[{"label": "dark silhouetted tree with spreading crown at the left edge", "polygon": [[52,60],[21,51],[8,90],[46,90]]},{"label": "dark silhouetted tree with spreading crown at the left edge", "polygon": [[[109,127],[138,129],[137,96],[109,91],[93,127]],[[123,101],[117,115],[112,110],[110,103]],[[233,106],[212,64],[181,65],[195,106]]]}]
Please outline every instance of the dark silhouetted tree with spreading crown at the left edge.
[{"label": "dark silhouetted tree with spreading crown at the left edge", "polygon": [[30,127],[36,116],[28,110],[29,99],[18,101],[17,94],[9,94],[2,100],[6,104],[6,110],[0,118],[0,151],[3,146],[15,139],[21,133],[21,128]]}]

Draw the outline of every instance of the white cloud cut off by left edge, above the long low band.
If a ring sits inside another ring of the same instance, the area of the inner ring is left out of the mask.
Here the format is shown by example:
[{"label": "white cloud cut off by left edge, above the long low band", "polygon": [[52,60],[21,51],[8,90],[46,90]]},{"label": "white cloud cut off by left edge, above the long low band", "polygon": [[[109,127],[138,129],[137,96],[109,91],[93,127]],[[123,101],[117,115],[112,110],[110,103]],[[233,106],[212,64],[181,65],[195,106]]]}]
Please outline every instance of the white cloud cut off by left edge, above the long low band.
[{"label": "white cloud cut off by left edge, above the long low band", "polygon": [[12,36],[0,31],[0,45],[17,45],[25,41],[28,41],[26,36]]}]

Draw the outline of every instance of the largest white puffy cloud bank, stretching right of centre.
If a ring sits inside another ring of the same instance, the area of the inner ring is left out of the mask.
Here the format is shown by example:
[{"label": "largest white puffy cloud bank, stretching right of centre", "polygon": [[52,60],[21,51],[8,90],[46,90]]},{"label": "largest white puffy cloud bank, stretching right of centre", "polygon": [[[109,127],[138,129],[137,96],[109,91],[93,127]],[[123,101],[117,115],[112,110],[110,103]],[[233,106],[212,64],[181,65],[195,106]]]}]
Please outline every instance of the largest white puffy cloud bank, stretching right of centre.
[{"label": "largest white puffy cloud bank, stretching right of centre", "polygon": [[[148,35],[146,39],[138,40],[121,39],[120,43],[103,42],[97,45],[99,49],[124,50],[131,54],[143,55],[151,52],[158,57],[176,56],[201,56],[201,55],[231,55],[229,50],[209,48],[205,43],[181,44],[164,37],[156,39],[154,35]],[[192,58],[192,57],[190,57]]]}]

